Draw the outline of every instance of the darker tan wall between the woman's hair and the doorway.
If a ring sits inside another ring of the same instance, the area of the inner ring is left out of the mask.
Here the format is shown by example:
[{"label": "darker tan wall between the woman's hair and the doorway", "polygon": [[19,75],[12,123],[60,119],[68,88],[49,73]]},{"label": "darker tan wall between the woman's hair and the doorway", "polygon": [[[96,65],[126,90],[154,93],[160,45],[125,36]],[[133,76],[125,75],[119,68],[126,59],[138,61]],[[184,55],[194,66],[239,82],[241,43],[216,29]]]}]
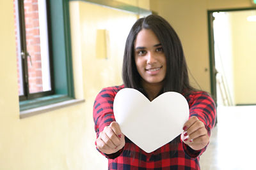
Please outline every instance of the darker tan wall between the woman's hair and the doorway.
[{"label": "darker tan wall between the woman's hair and the doorway", "polygon": [[[150,9],[166,18],[177,31],[191,73],[208,92],[211,92],[211,82],[207,10],[247,7],[252,7],[250,0],[150,0]],[[192,77],[190,79],[192,85],[198,87]]]}]

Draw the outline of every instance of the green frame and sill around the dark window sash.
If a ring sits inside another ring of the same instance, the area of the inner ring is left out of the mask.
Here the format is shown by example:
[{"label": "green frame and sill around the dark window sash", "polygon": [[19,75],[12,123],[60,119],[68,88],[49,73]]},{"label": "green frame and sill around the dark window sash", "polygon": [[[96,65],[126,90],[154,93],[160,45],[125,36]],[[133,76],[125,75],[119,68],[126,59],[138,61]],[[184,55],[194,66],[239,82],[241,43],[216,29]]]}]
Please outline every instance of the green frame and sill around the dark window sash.
[{"label": "green frame and sill around the dark window sash", "polygon": [[49,40],[52,53],[54,94],[20,101],[20,118],[28,117],[26,110],[74,99],[72,52],[68,0],[49,0]]}]

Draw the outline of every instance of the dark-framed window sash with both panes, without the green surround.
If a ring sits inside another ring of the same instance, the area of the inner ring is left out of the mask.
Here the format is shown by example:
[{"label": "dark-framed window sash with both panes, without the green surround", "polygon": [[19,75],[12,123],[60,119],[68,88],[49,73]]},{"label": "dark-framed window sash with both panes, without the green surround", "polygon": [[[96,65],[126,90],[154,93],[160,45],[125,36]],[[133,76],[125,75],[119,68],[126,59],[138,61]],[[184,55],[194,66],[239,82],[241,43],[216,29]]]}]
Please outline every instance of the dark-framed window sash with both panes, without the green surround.
[{"label": "dark-framed window sash with both panes, without the green surround", "polygon": [[54,94],[50,74],[47,4],[45,0],[15,0],[15,36],[20,101]]}]

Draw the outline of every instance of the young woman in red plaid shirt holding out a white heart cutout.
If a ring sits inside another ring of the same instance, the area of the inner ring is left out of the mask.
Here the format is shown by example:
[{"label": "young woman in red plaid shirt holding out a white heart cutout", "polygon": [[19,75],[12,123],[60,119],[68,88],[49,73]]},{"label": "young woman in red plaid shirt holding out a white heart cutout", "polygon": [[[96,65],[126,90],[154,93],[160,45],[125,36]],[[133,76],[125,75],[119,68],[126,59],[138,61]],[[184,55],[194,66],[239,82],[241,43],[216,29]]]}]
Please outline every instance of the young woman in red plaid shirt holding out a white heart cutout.
[{"label": "young woman in red plaid shirt holding out a white heart cutout", "polygon": [[[189,85],[182,45],[164,18],[149,15],[132,26],[125,44],[122,77],[124,85],[102,89],[93,108],[95,145],[108,158],[108,168],[200,169],[199,157],[215,123],[215,104],[209,94]],[[113,114],[115,95],[125,87],[139,90],[150,101],[164,92],[179,92],[186,97],[189,120],[182,134],[151,153],[132,143],[122,134]]]}]

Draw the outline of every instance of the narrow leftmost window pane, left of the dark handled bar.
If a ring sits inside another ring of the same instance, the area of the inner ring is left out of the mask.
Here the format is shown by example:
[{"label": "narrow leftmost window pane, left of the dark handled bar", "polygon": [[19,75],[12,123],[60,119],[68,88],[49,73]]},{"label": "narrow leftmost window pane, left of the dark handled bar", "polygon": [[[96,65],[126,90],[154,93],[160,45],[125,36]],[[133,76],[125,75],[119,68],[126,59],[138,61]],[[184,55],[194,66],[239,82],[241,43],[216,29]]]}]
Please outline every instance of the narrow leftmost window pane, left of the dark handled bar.
[{"label": "narrow leftmost window pane, left of the dark handled bar", "polygon": [[19,96],[24,95],[23,79],[22,79],[22,61],[20,56],[20,29],[19,29],[19,8],[17,0],[13,0],[14,19],[15,19],[15,43],[16,43],[16,57],[17,57],[17,76],[19,85]]}]

